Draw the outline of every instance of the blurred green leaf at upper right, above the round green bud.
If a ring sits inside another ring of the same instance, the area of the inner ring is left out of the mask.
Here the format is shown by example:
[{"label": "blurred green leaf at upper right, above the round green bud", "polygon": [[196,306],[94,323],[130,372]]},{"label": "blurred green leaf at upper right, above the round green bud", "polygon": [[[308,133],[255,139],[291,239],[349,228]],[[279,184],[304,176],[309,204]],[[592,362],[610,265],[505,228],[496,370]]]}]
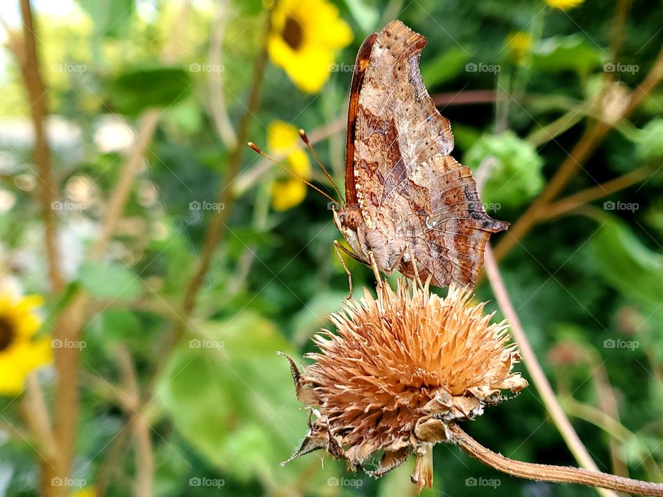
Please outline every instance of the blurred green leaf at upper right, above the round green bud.
[{"label": "blurred green leaf at upper right, above the round green bud", "polygon": [[535,70],[558,72],[575,70],[582,75],[604,64],[606,54],[580,35],[557,36],[541,40],[532,50]]}]

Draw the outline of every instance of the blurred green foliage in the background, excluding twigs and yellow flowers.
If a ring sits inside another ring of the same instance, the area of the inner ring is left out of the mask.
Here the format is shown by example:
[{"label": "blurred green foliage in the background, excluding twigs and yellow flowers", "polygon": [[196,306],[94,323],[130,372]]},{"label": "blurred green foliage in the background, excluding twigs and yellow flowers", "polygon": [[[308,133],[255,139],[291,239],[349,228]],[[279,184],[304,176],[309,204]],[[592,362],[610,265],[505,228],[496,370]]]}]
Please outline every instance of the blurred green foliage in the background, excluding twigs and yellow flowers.
[{"label": "blurred green foliage in the background, excluding twigs and yellow flowers", "polygon": [[[483,199],[500,205],[493,217],[517,221],[582,135],[587,115],[591,117],[593,78],[604,77],[604,64],[611,61],[613,6],[586,0],[561,12],[535,0],[508,6],[501,0],[334,3],[355,35],[338,64],[353,64],[365,35],[398,17],[429,40],[421,68],[431,95],[508,93],[507,108],[499,102],[450,101],[441,112],[456,130],[455,157],[464,157],[472,168],[492,157]],[[70,126],[51,140],[57,180],[63,199],[86,204],[82,211],[59,213],[63,257],[72,285],[88,290],[95,301],[84,330],[75,477],[90,487],[106,478],[105,494],[111,497],[131,492],[135,462],[126,433],[130,420],[106,387],[119,381],[113,351],[122,344],[135,360],[140,387],[156,384],[146,416],[157,496],[411,494],[410,462],[382,480],[349,474],[329,457],[321,462],[322,454],[286,467],[278,464],[294,451],[307,427],[287,362],[276,351],[296,358],[311,351],[310,335],[327,326],[325,315],[338,309],[347,291],[347,277],[332,249],[332,240],[340,235],[327,201],[311,191],[290,211],[269,210],[269,185],[282,174],[278,168],[263,170],[236,199],[229,231],[204,278],[191,329],[172,355],[160,356],[213,215],[191,204],[215,202],[218,189],[227,186],[221,181],[229,151],[215,128],[212,109],[219,105],[219,95],[210,91],[209,80],[222,77],[221,105],[236,126],[265,30],[262,0],[231,2],[223,25],[222,68],[195,70],[211,64],[218,8],[214,2],[193,2],[182,23],[173,1],[79,0],[75,13],[66,17],[37,9],[48,102],[52,114]],[[619,64],[632,70],[614,74],[629,88],[641,81],[660,50],[662,25],[660,5],[633,2],[619,56]],[[516,64],[504,50],[515,31],[532,37],[525,64]],[[467,64],[499,70],[468,71]],[[335,72],[320,94],[304,95],[282,71],[267,66],[260,106],[249,127],[251,140],[265,144],[267,124],[276,119],[307,130],[343,119],[351,76]],[[26,292],[47,293],[30,147],[8,134],[14,122],[10,118],[29,115],[15,64],[8,64],[0,86],[0,180],[2,191],[13,199],[0,217],[3,267]],[[81,262],[124,161],[124,149],[100,145],[104,119],[117,119],[134,133],[137,115],[153,106],[162,113],[159,126],[108,257]],[[627,124],[611,132],[566,193],[640,166],[657,173],[663,157],[662,107],[658,89]],[[496,130],[496,115],[506,119],[506,128]],[[549,126],[562,115],[580,120],[557,134]],[[540,135],[541,129],[547,133],[544,142],[532,144],[528,137]],[[338,179],[343,177],[344,144],[345,137],[337,133],[316,145]],[[260,164],[260,157],[247,150],[240,175]],[[618,456],[632,476],[646,479],[660,478],[663,467],[660,194],[660,175],[653,174],[584,211],[535,228],[501,264],[532,346],[562,403],[573,397],[599,406],[602,391],[594,374],[597,364],[605,369],[619,421],[631,433],[617,440]],[[373,284],[368,269],[352,261],[349,268],[356,288]],[[493,298],[485,283],[477,294]],[[61,305],[48,302],[47,310],[57,314]],[[492,302],[488,306],[497,309]],[[562,343],[585,355],[559,360],[553,351]],[[45,371],[47,385],[52,384],[48,375]],[[46,393],[52,398],[52,387]],[[19,422],[19,403],[1,398],[0,415],[3,421]],[[599,467],[611,471],[610,433],[591,421],[573,419]],[[484,445],[512,458],[575,464],[533,387],[489,409],[467,428]],[[0,496],[35,496],[38,467],[32,447],[6,433],[0,427]],[[437,447],[434,461],[434,490],[424,495],[595,495],[592,489],[508,478],[454,447]],[[333,478],[341,477],[354,483],[335,485],[343,480]],[[191,484],[203,478],[222,480],[223,485],[211,489]],[[467,478],[497,479],[499,485],[472,486]]]}]

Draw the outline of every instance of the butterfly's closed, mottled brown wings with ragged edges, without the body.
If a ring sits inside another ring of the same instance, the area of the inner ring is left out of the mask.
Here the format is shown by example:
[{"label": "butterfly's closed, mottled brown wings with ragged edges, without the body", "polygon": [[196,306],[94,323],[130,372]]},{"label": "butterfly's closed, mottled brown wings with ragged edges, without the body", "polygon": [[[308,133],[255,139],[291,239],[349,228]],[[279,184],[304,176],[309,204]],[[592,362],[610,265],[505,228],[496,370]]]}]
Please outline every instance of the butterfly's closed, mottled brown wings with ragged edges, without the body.
[{"label": "butterfly's closed, mottled brown wings with ragged edges, without the body", "polygon": [[[369,229],[410,246],[421,276],[432,275],[432,284],[474,284],[490,233],[508,224],[486,214],[470,170],[448,155],[454,147],[449,121],[419,72],[425,37],[392,21],[368,40],[358,55],[360,75],[356,68],[353,78],[359,89],[350,99],[354,166],[348,182],[346,164],[348,198]],[[412,277],[411,264],[399,269]]]}]

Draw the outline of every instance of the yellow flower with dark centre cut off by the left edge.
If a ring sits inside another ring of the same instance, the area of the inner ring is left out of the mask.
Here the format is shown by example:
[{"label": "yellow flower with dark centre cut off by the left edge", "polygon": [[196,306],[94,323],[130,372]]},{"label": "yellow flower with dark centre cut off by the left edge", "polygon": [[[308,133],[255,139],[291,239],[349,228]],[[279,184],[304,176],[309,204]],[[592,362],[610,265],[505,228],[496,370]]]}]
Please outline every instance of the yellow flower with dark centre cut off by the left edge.
[{"label": "yellow flower with dark centre cut off by the left edge", "polygon": [[37,295],[0,295],[0,395],[21,393],[28,373],[50,362],[50,339],[34,337],[41,326],[34,309],[41,304]]}]

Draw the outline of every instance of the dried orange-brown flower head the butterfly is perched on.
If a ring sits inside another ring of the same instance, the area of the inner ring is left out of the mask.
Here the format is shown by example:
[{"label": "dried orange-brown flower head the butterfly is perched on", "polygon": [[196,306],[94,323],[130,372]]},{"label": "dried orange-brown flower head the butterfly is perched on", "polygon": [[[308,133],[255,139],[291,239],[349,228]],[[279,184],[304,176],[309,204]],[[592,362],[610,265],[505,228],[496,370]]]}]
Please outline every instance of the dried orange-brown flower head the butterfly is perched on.
[{"label": "dried orange-brown flower head the butterfly is perched on", "polygon": [[527,386],[511,368],[519,361],[505,322],[490,323],[484,304],[450,286],[446,298],[427,285],[412,291],[398,282],[378,286],[378,298],[365,290],[330,320],[336,333],[314,337],[320,352],[300,373],[289,358],[297,397],[310,408],[309,432],[289,459],[326,449],[364,467],[383,452],[382,476],[414,452],[412,480],[432,485],[432,445],[445,440],[445,426],[471,420],[483,407]]}]

